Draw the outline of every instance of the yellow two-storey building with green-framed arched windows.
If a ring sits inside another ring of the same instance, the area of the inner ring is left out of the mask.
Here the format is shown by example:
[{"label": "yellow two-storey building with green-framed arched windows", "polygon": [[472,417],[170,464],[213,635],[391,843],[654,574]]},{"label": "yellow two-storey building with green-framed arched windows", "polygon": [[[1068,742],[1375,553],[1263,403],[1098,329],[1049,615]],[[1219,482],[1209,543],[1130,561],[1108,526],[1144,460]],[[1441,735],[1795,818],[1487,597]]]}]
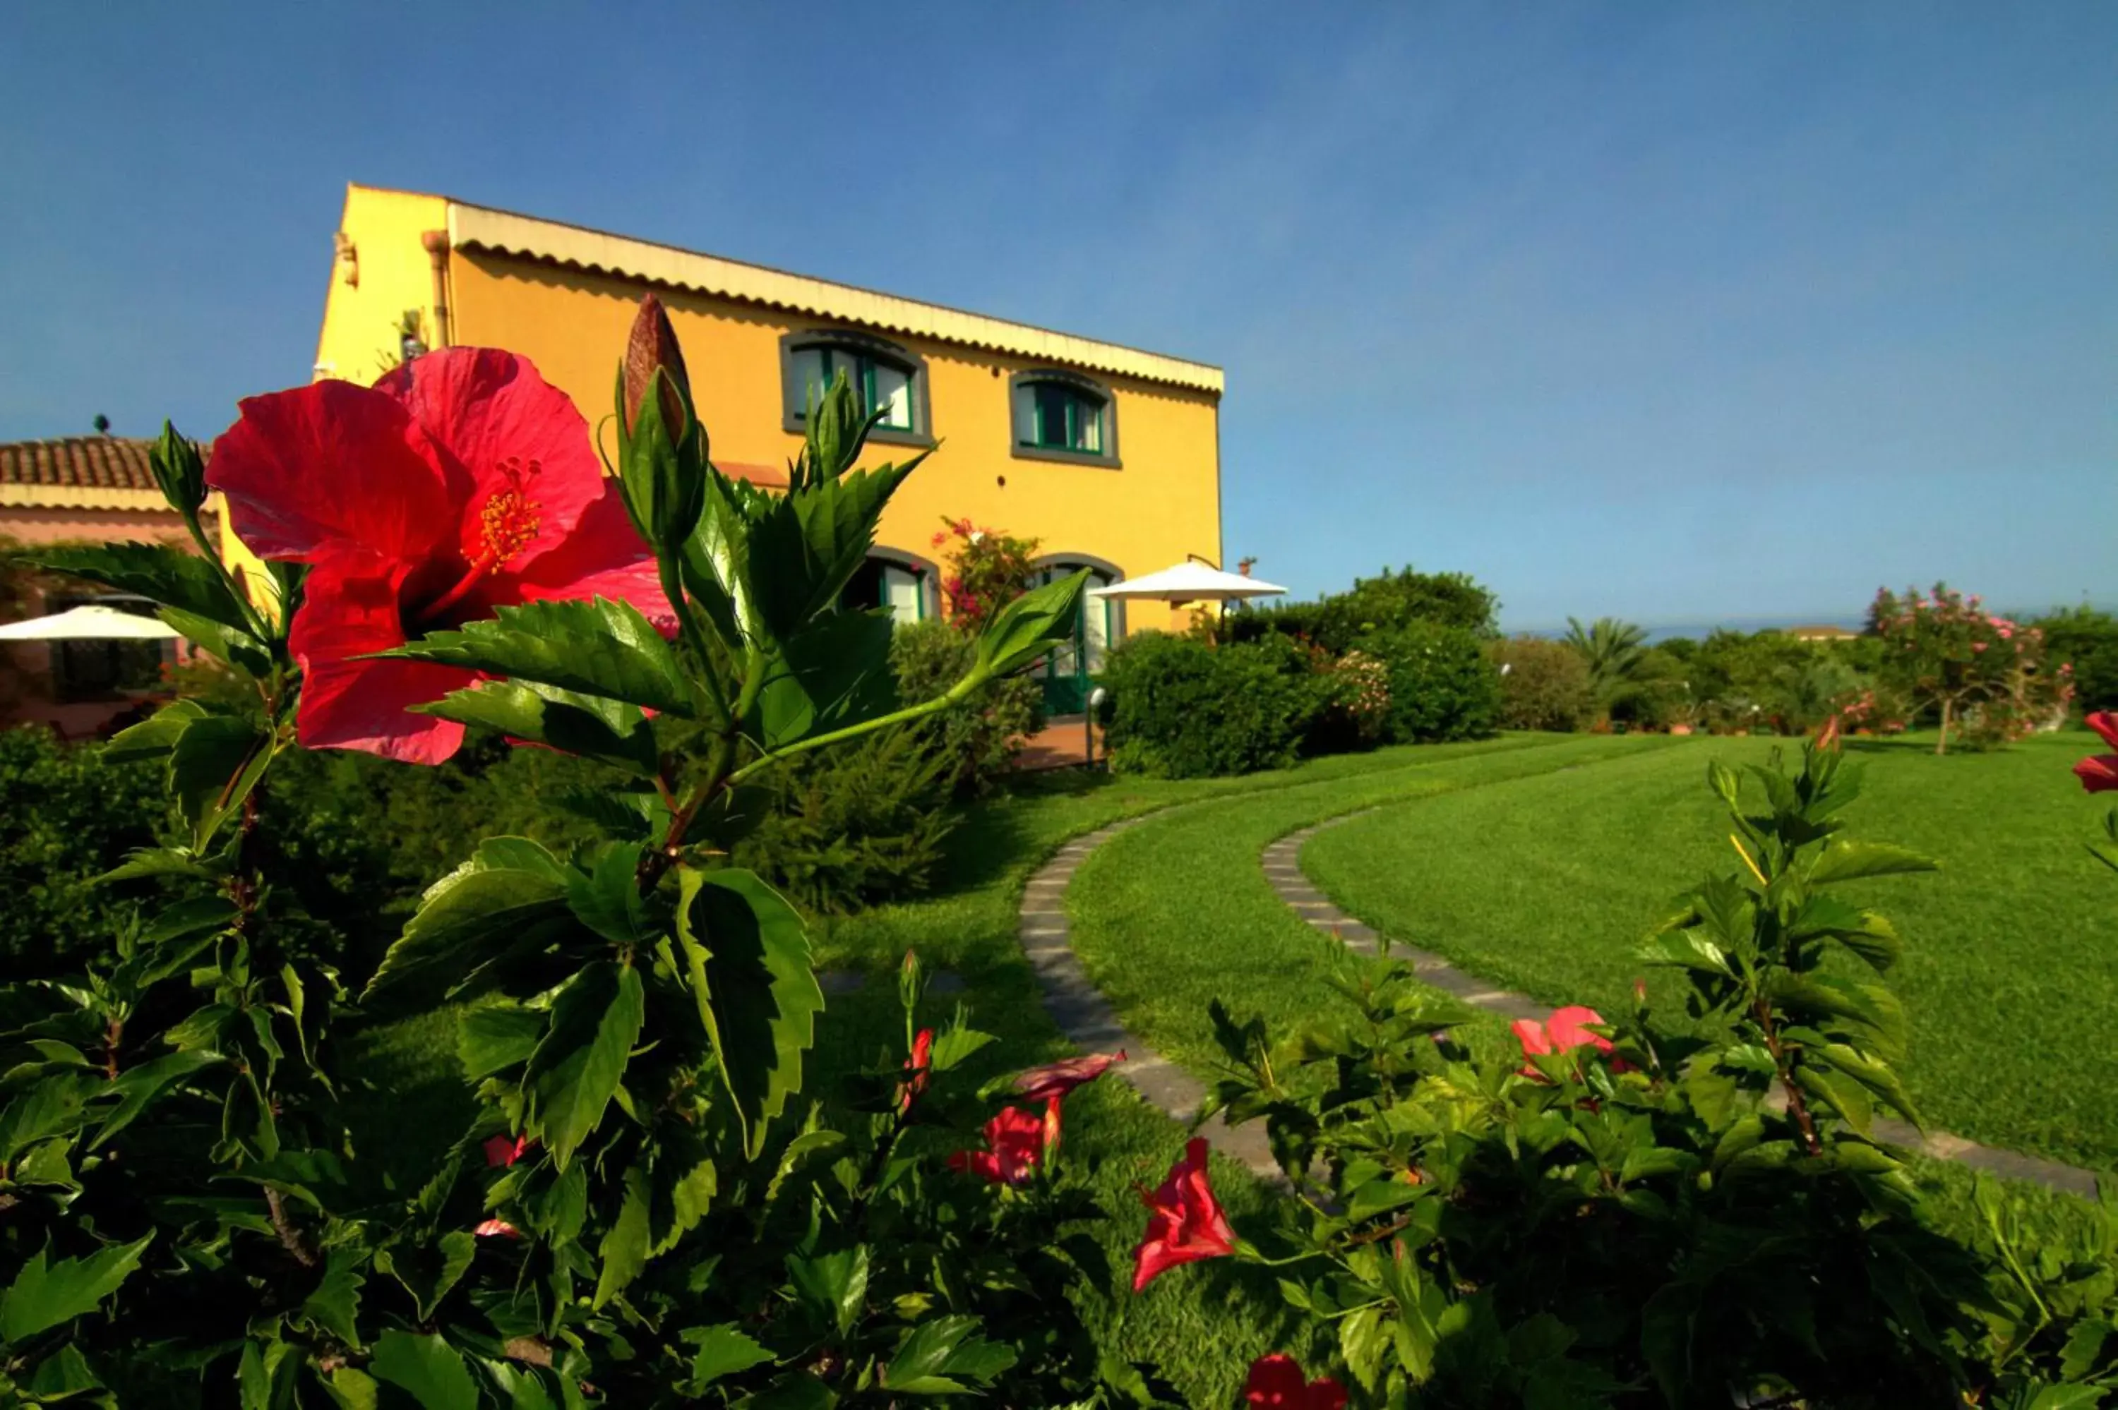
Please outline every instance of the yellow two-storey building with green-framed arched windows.
[{"label": "yellow two-storey building with green-framed arched windows", "polygon": [[[593,426],[648,290],[722,472],[784,485],[807,390],[837,370],[885,411],[870,462],[934,447],[883,517],[866,601],[940,612],[943,519],[1034,538],[1040,565],[1106,582],[1220,563],[1220,368],[438,195],[347,188],[316,375],[373,381],[405,337],[506,347]],[[1055,709],[1078,707],[1082,665],[1129,625],[1188,620],[1163,603],[1129,616],[1091,605],[1084,650],[1051,667]]]}]

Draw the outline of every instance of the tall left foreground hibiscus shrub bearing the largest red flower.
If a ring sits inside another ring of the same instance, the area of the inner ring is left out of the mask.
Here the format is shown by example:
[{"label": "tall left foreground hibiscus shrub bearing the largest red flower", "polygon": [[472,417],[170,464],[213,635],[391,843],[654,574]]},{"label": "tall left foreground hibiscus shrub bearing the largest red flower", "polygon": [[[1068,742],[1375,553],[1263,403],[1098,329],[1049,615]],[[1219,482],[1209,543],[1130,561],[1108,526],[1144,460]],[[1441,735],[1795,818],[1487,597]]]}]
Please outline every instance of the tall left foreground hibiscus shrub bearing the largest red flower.
[{"label": "tall left foreground hibiscus shrub bearing the largest red flower", "polygon": [[[959,1092],[985,1037],[919,1027],[909,963],[904,1050],[826,1103],[803,919],[731,864],[779,769],[1038,661],[1084,580],[998,605],[900,703],[890,614],[839,601],[917,459],[856,468],[875,417],[841,379],[769,495],[710,464],[693,406],[648,299],[610,474],[525,360],[443,349],[244,402],[210,478],[263,576],[42,555],[159,601],[241,688],[112,741],[178,826],[114,879],[163,896],[112,957],[0,995],[0,1399],[1156,1402],[1082,1334],[1097,1211],[1057,1141],[1099,1069]],[[152,464],[205,548],[197,447],[165,432]],[[366,984],[451,1010],[472,1088],[407,1183],[341,1109],[352,999],[273,876],[273,790],[303,747],[436,764],[470,728],[599,777],[551,790],[574,821],[546,840],[464,838]]]}]

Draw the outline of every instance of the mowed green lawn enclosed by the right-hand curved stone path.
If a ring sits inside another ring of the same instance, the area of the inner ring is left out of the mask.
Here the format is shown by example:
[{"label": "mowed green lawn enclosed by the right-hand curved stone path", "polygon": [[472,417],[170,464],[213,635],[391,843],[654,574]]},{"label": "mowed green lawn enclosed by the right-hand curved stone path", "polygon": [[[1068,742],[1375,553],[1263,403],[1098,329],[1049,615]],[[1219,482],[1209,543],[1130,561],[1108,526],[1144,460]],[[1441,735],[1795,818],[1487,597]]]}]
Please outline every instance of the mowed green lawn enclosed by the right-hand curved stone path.
[{"label": "mowed green lawn enclosed by the right-hand curved stone path", "polygon": [[[1775,741],[1694,739],[1387,807],[1330,828],[1303,868],[1383,934],[1540,999],[1629,1004],[1633,948],[1669,900],[1735,864],[1709,758]],[[1908,1082],[1946,1131],[2076,1164],[2118,1162],[2118,876],[2082,847],[2101,807],[2067,766],[2088,733],[1936,758],[1929,741],[1853,741],[1851,836],[1942,870],[1868,883],[1906,938],[1891,972],[1910,1018]],[[1851,896],[1851,891],[1849,891]],[[1650,978],[1658,1004],[1673,976]]]}]

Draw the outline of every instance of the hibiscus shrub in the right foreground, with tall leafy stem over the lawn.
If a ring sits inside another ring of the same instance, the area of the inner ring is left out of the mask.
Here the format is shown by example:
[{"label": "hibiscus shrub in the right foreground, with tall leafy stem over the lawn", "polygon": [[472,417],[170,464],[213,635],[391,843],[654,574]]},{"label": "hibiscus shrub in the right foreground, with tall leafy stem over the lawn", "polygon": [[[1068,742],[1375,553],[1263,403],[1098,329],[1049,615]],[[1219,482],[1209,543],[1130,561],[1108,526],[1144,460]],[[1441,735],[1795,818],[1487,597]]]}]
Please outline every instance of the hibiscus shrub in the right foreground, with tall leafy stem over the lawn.
[{"label": "hibiscus shrub in the right foreground, with tall leafy stem over the lawn", "polygon": [[1885,984],[1902,940],[1841,887],[1932,864],[1845,836],[1832,735],[1749,790],[1711,766],[1741,868],[1641,951],[1686,976],[1684,1023],[1637,991],[1616,1023],[1521,1020],[1521,1065],[1480,1063],[1470,1012],[1387,955],[1345,957],[1345,1010],[1286,1037],[1216,1004],[1209,1107],[1264,1122],[1292,1198],[1233,1230],[1203,1171],[1173,1181],[1139,1281],[1273,1266],[1336,1344],[1322,1382],[1269,1370],[1281,1404],[1343,1404],[1339,1376],[1364,1406],[2099,1404],[2114,1207],[2038,1247],[1987,1183],[1951,1239],[1883,1120],[1919,1120]]}]

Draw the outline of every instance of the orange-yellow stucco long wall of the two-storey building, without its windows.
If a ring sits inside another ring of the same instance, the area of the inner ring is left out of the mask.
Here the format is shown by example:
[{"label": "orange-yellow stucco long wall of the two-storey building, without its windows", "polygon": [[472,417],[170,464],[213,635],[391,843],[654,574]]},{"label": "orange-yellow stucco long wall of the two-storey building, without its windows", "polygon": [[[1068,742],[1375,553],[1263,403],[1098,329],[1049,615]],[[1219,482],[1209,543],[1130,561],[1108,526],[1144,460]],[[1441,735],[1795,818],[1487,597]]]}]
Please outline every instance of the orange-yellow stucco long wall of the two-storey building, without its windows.
[{"label": "orange-yellow stucco long wall of the two-storey building, without its windows", "polygon": [[[449,299],[457,343],[508,347],[563,387],[591,426],[610,413],[625,335],[644,286],[536,260],[455,250]],[[659,290],[690,370],[716,462],[784,466],[801,447],[782,426],[779,337],[818,324],[726,299]],[[1209,392],[1103,375],[1123,468],[1010,453],[1008,377],[1019,358],[892,339],[926,358],[932,434],[940,449],[883,514],[879,546],[930,559],[940,519],[1036,538],[1048,555],[1087,555],[1139,576],[1197,553],[1220,563],[1218,398]],[[864,464],[915,451],[873,445]],[[1004,481],[1004,483],[1002,483]],[[1131,603],[1127,627],[1182,629],[1190,612]]]}]

